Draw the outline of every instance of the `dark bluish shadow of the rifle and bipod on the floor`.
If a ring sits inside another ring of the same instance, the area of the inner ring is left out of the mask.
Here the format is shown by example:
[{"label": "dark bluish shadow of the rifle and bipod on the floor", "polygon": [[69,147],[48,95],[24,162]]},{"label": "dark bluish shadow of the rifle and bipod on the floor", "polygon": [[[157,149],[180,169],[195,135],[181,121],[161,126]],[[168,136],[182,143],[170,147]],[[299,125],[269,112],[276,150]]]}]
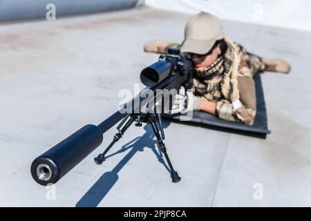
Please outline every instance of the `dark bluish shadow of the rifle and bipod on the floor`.
[{"label": "dark bluish shadow of the rifle and bipod on the floor", "polygon": [[[163,128],[167,128],[169,124],[169,122],[163,122]],[[129,162],[129,160],[131,160],[135,153],[137,153],[138,151],[144,151],[144,147],[151,148],[151,151],[153,151],[153,153],[158,158],[158,162],[160,162],[160,164],[162,164],[165,169],[167,169],[169,175],[171,174],[169,166],[167,166],[166,162],[164,162],[162,152],[157,146],[157,140],[154,139],[156,136],[153,133],[151,125],[146,124],[144,126],[144,130],[146,132],[141,137],[136,137],[135,139],[122,146],[119,151],[106,156],[108,160],[108,158],[113,157],[113,155],[117,155],[131,149],[131,151],[129,151],[129,153],[127,153],[123,157],[123,159],[115,166],[115,168],[113,168],[112,171],[104,173],[97,180],[97,182],[93,184],[91,189],[89,189],[84,194],[84,196],[77,202],[77,204],[75,205],[76,207],[95,207],[100,204],[106,194],[109,193],[113,185],[117,182],[119,178],[117,173],[119,173],[123,166],[125,166]]]}]

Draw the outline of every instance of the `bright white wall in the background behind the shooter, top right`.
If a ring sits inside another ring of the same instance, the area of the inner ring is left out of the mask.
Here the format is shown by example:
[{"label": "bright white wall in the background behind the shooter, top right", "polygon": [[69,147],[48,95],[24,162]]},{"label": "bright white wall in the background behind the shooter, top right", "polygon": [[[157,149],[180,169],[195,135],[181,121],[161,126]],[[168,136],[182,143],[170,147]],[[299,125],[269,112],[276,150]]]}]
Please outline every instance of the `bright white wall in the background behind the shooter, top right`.
[{"label": "bright white wall in the background behind the shooter, top right", "polygon": [[311,0],[146,0],[147,6],[232,21],[311,31]]}]

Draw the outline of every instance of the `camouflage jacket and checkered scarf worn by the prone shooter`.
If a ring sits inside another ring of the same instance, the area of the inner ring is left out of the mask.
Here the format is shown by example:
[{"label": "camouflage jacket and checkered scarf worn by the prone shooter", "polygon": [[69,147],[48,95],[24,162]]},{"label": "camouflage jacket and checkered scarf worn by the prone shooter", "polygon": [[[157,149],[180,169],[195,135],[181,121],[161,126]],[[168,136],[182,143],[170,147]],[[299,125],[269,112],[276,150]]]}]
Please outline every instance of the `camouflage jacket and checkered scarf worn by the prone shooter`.
[{"label": "camouflage jacket and checkered scarf worn by the prone shooter", "polygon": [[[225,37],[228,49],[205,70],[195,70],[192,90],[194,95],[217,102],[220,119],[253,124],[256,116],[254,75],[264,70],[261,57]],[[235,63],[235,64],[234,64]],[[233,66],[236,65],[236,68]],[[232,102],[239,100],[237,110]]]}]

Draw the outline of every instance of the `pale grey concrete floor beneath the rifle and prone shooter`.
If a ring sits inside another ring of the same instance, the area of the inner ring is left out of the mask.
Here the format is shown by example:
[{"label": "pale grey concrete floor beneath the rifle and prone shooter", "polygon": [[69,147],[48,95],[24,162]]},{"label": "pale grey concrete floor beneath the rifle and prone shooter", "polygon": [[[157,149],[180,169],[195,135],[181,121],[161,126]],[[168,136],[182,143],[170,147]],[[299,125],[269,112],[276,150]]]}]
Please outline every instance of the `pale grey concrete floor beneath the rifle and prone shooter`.
[{"label": "pale grey concrete floor beneath the rifle and prone shooter", "polygon": [[[132,127],[102,166],[104,143],[50,189],[32,180],[38,155],[115,110],[122,88],[158,55],[149,39],[181,41],[188,15],[150,8],[0,25],[0,206],[311,206],[311,33],[224,21],[248,50],[290,61],[262,76],[267,140],[165,123],[182,180],[174,184],[151,128]],[[254,189],[262,184],[263,199]]]}]

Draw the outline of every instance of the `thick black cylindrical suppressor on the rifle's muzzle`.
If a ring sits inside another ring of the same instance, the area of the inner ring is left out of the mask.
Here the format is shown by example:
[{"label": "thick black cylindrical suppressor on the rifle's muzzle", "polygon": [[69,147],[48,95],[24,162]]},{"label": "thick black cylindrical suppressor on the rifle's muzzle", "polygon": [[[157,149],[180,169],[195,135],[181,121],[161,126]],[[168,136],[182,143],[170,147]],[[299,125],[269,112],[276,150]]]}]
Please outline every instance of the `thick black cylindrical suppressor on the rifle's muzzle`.
[{"label": "thick black cylindrical suppressor on the rifle's muzzle", "polygon": [[88,124],[73,133],[31,164],[31,175],[41,185],[55,184],[88,154],[102,144],[103,135],[99,127]]}]

